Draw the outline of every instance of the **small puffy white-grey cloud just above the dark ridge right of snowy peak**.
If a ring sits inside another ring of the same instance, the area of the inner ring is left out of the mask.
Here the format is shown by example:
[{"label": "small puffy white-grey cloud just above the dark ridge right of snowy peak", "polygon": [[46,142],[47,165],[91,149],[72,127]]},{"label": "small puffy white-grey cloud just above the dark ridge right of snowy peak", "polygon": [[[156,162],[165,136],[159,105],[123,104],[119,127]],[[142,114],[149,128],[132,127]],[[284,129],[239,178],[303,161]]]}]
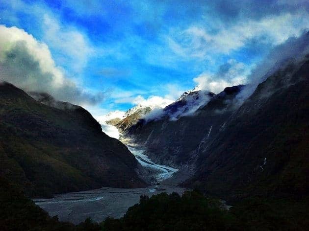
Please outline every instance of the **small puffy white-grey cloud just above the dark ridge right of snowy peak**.
[{"label": "small puffy white-grey cloud just above the dark ridge right of snowy peak", "polygon": [[219,93],[226,87],[245,84],[251,67],[234,59],[221,65],[216,73],[204,72],[193,79],[198,84],[197,89]]}]

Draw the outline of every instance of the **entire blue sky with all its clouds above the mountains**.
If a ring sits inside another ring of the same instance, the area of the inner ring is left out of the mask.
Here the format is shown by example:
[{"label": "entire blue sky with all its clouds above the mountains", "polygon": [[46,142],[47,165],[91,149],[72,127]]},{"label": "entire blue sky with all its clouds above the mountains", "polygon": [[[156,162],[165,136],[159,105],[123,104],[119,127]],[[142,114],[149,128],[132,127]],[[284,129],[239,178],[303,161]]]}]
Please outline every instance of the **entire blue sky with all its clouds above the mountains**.
[{"label": "entire blue sky with all its clouds above the mountains", "polygon": [[245,84],[307,0],[0,0],[0,79],[95,117]]}]

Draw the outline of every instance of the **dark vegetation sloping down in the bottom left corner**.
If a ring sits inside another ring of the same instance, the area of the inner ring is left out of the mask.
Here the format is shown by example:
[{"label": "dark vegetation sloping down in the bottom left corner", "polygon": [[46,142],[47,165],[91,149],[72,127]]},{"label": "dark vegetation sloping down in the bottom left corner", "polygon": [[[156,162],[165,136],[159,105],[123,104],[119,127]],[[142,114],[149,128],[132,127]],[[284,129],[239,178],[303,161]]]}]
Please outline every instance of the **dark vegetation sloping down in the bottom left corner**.
[{"label": "dark vegetation sloping down in the bottom left corner", "polygon": [[0,230],[1,231],[98,231],[97,223],[87,219],[74,226],[59,222],[36,206],[16,186],[0,177]]}]

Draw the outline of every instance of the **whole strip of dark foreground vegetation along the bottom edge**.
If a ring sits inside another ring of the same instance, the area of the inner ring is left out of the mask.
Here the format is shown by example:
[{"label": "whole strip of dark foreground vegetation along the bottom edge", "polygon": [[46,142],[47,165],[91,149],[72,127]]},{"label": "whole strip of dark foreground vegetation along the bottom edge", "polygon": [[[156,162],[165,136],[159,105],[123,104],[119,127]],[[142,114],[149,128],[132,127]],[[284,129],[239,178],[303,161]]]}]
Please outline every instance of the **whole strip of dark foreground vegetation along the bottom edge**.
[{"label": "whole strip of dark foreground vegetation along the bottom edge", "polygon": [[88,218],[75,226],[51,218],[18,187],[0,178],[1,231],[305,231],[308,208],[308,199],[247,198],[226,210],[219,200],[193,190],[182,196],[141,196],[120,219],[106,218],[98,224]]}]

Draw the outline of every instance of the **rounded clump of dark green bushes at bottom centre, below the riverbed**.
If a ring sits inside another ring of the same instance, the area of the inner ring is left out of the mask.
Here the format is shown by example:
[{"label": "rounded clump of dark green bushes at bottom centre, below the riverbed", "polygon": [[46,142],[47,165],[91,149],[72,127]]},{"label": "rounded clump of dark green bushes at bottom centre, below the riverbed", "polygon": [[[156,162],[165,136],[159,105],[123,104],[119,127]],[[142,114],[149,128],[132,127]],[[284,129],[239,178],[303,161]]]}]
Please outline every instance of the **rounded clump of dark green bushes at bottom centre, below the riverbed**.
[{"label": "rounded clump of dark green bushes at bottom centre, below the riverbed", "polygon": [[236,230],[235,217],[197,191],[142,196],[121,219],[107,218],[104,230]]}]

